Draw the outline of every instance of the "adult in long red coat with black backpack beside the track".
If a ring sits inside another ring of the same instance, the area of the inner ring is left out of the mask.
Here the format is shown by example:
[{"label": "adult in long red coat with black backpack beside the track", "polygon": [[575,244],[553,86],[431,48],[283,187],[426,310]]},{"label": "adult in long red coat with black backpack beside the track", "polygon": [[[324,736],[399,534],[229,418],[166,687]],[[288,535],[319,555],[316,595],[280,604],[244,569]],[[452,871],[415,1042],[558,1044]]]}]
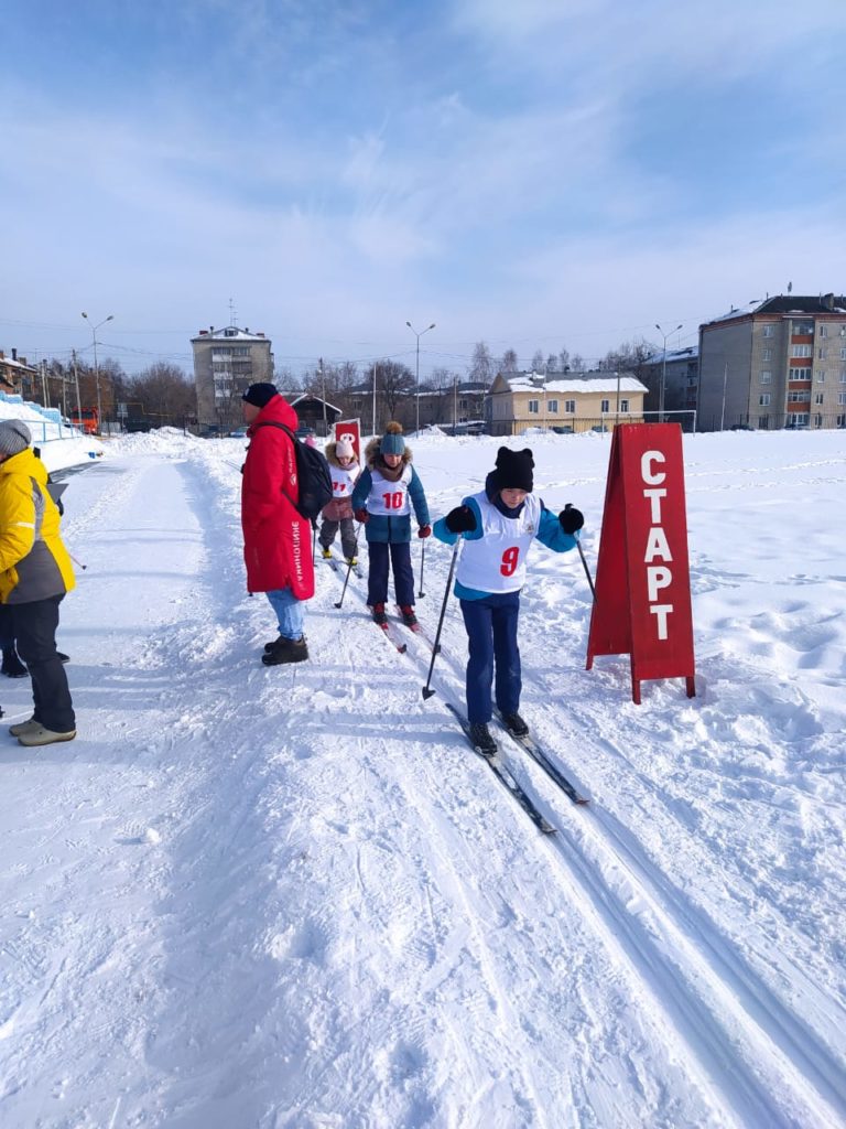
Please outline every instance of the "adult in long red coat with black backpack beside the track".
[{"label": "adult in long red coat with black backpack beside the track", "polygon": [[247,588],[266,594],[279,621],[279,639],[265,647],[262,662],[300,663],[308,658],[302,602],[315,594],[315,566],[308,519],[294,506],[297,440],[273,426],[284,423],[293,431],[297,415],[272,384],[250,384],[243,406],[250,440],[241,482]]}]

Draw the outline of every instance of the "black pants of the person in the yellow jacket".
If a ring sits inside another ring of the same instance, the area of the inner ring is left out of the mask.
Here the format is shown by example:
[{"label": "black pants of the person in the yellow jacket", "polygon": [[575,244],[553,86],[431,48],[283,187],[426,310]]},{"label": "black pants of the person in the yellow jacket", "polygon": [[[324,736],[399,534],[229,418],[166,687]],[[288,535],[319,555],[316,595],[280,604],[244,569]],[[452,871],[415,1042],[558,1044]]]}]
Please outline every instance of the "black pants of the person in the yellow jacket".
[{"label": "black pants of the person in the yellow jacket", "polygon": [[33,717],[54,733],[77,728],[68,675],[55,649],[59,605],[63,596],[34,599],[29,604],[8,604],[18,640],[18,654],[33,680]]}]

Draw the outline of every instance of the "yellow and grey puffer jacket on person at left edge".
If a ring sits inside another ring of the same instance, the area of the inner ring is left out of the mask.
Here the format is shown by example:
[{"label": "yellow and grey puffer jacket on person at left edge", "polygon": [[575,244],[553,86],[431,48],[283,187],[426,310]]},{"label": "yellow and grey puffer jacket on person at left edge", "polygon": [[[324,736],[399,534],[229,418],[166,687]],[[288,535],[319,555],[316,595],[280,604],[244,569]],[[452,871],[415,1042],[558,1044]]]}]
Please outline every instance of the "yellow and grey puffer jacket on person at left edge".
[{"label": "yellow and grey puffer jacket on person at left edge", "polygon": [[0,463],[0,603],[60,596],[74,583],[47,470],[27,447]]}]

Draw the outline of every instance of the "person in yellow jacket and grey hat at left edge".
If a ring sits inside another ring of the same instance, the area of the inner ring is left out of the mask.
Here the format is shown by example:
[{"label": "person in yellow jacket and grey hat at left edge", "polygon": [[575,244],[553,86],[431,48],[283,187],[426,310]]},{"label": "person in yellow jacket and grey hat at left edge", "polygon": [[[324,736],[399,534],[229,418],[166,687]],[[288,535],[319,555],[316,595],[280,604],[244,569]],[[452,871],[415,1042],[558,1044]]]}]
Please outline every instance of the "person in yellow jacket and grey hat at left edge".
[{"label": "person in yellow jacket and grey hat at left edge", "polygon": [[9,733],[35,746],[72,741],[77,720],[55,646],[59,605],[74,586],[73,569],[59,535],[47,471],[30,440],[23,420],[0,420],[0,603],[11,612],[35,703],[32,718]]}]

